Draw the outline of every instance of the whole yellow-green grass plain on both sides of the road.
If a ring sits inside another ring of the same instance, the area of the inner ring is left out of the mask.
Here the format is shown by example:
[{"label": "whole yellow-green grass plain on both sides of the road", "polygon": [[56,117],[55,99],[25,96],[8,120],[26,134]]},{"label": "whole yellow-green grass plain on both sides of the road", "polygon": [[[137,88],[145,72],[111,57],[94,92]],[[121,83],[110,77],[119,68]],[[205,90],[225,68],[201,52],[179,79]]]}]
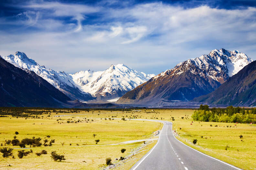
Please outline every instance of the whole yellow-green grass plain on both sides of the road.
[{"label": "whole yellow-green grass plain on both sides of the road", "polygon": [[[32,147],[33,154],[22,159],[16,156],[18,149],[14,149],[16,159],[0,157],[0,167],[1,169],[99,169],[99,167],[105,165],[107,157],[114,160],[114,158],[129,155],[131,150],[141,146],[142,143],[100,145],[147,139],[152,136],[154,131],[162,128],[161,123],[136,120],[136,118],[142,118],[171,121],[174,123],[173,129],[177,129],[180,135],[178,139],[187,145],[242,169],[256,169],[255,127],[246,124],[237,124],[235,127],[234,123],[198,121],[190,125],[193,121],[191,119],[193,111],[191,109],[97,110],[57,114],[71,115],[64,117],[54,117],[56,114],[52,113],[50,117],[43,115],[43,119],[0,118],[0,143],[4,144],[5,139],[13,139],[15,131],[19,132],[16,135],[17,139],[35,136],[41,137],[43,140],[47,135],[50,135],[49,139],[56,140],[53,146]],[[107,118],[107,120],[104,118]],[[109,120],[109,118],[134,118],[134,120]],[[57,119],[62,120],[59,120],[58,123]],[[175,120],[172,121],[172,119]],[[73,121],[74,123],[67,123],[67,121]],[[76,121],[77,123],[75,123]],[[216,125],[217,127],[215,127]],[[97,136],[94,138],[93,134],[97,134]],[[243,138],[240,139],[240,135]],[[89,146],[96,145],[95,139],[100,139],[99,146]],[[193,139],[198,140],[196,145],[191,143]],[[65,143],[63,146],[62,142]],[[155,143],[146,146],[143,152],[133,156],[133,159],[116,169],[130,169]],[[70,144],[72,147],[70,147]],[[79,147],[77,147],[77,144]],[[11,145],[8,145],[8,147],[19,148],[19,146]],[[120,152],[122,148],[126,148],[124,154]],[[47,155],[38,157],[34,154],[43,149],[48,151]],[[54,162],[50,158],[51,151],[57,151],[58,154],[65,155],[66,160]],[[9,164],[11,167],[7,166]]]}]

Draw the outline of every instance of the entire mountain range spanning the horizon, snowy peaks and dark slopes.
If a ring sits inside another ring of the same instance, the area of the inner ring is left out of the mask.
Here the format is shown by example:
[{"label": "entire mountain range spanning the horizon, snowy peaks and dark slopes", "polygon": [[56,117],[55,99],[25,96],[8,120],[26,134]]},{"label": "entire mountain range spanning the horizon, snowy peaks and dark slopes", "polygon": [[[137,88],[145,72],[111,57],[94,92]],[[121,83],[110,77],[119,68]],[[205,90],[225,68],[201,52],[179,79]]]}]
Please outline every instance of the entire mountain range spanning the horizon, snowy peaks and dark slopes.
[{"label": "entire mountain range spanning the horizon, snowy peaks and dark slopes", "polygon": [[[156,76],[124,64],[111,65],[105,71],[67,74],[47,69],[25,53],[16,52],[0,56],[0,104],[69,108],[176,107],[201,103],[255,106],[255,65],[242,52],[215,49]],[[102,102],[105,104],[95,104]]]}]

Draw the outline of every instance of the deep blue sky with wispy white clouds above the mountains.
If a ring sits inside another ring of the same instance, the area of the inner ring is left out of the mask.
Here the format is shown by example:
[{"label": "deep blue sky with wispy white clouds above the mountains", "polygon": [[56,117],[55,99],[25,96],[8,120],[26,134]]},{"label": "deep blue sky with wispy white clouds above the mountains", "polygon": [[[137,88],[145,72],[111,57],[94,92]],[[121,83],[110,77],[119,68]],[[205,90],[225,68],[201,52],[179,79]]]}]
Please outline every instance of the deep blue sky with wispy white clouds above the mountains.
[{"label": "deep blue sky with wispy white clouds above the mountains", "polygon": [[158,74],[225,48],[256,60],[256,1],[4,1],[0,55],[56,71],[124,63]]}]

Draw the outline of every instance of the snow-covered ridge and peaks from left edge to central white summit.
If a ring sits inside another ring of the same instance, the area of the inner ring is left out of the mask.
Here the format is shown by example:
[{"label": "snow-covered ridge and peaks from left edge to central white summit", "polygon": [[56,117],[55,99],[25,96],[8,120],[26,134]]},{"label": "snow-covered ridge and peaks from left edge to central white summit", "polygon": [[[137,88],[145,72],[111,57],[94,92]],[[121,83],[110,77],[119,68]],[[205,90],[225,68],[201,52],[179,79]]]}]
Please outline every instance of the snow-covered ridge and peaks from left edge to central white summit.
[{"label": "snow-covered ridge and peaks from left edge to central white summit", "polygon": [[47,69],[23,52],[1,57],[17,67],[34,71],[70,99],[80,101],[118,98],[155,76],[135,71],[123,64],[112,65],[105,71],[88,70],[67,74],[64,71]]}]

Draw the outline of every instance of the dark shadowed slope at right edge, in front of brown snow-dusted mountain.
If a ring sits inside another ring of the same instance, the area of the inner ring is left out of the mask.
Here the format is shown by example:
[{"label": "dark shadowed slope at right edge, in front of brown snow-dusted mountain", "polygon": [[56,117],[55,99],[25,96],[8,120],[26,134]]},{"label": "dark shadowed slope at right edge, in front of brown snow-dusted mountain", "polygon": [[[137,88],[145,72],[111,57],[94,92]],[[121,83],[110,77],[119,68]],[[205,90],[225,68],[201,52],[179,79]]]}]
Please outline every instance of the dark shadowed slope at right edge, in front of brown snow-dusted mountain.
[{"label": "dark shadowed slope at right edge, in front of brown snow-dusted mountain", "polygon": [[245,66],[215,91],[193,101],[218,105],[256,106],[256,61]]}]

